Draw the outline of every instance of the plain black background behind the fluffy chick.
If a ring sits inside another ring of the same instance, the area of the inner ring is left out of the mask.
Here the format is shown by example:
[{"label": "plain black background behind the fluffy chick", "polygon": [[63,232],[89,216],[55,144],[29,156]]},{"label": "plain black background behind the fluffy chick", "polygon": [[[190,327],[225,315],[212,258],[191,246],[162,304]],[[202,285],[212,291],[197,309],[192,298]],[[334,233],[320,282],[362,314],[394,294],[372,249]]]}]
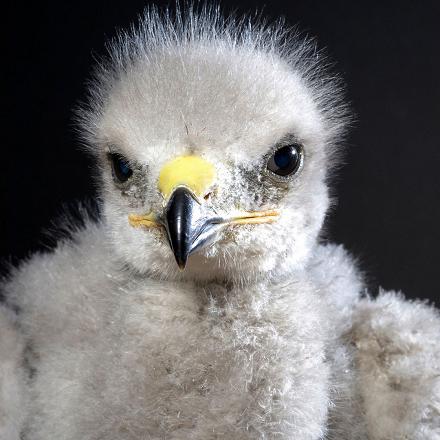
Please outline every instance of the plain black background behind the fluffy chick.
[{"label": "plain black background behind the fluffy chick", "polygon": [[[37,2],[38,3],[38,2]],[[3,15],[1,257],[40,249],[63,203],[94,194],[71,109],[94,59],[147,3],[15,3]],[[274,1],[264,7],[316,35],[347,83],[357,122],[336,181],[328,236],[378,285],[438,301],[440,288],[440,3]]]}]

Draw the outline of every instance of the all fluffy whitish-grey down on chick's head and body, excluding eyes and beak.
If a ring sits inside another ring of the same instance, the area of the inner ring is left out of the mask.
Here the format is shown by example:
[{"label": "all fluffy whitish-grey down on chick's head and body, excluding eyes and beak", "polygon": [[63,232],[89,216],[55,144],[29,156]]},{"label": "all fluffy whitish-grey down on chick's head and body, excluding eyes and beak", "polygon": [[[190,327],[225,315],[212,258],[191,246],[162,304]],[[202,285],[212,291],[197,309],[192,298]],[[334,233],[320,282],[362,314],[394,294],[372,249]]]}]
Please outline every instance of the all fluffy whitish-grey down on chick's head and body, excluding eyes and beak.
[{"label": "all fluffy whitish-grey down on chick's head and body, excluding eyes and beak", "polygon": [[[352,258],[319,242],[347,120],[320,58],[207,10],[150,10],[113,43],[79,113],[103,218],[2,286],[0,438],[440,439],[438,312],[362,296]],[[302,169],[272,179],[292,142]],[[164,209],[160,170],[188,154],[214,164],[219,215],[280,216],[221,229],[179,271],[164,228],[127,216]]]}]

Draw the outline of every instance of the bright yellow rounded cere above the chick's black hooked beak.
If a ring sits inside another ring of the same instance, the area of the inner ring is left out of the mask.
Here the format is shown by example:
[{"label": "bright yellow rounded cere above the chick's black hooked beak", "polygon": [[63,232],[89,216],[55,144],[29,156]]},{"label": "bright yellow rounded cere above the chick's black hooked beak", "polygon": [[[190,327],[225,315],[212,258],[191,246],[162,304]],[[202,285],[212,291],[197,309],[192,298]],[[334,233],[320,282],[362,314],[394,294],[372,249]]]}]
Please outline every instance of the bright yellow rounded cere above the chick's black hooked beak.
[{"label": "bright yellow rounded cere above the chick's black hooked beak", "polygon": [[167,200],[175,188],[186,186],[203,197],[216,177],[212,164],[198,156],[180,156],[167,162],[159,174],[159,191]]}]

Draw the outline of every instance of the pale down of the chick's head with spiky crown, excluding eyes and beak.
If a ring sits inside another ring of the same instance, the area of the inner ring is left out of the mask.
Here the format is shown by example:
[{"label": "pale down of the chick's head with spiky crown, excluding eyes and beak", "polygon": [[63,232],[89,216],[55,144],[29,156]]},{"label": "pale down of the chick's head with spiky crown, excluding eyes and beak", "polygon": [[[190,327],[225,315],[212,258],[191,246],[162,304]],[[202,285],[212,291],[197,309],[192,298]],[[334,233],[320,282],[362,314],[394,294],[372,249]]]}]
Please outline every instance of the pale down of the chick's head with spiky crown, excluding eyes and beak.
[{"label": "pale down of the chick's head with spiky crown, excluding eyes and beak", "polygon": [[[218,8],[147,9],[110,44],[78,112],[101,171],[109,240],[129,267],[158,277],[246,282],[303,267],[329,205],[326,176],[347,122],[339,80],[315,44],[276,23],[223,18]],[[274,179],[277,148],[300,145],[292,179]],[[132,170],[115,182],[108,155]],[[179,272],[163,228],[133,228],[157,213],[164,165],[197,156],[215,169],[206,204],[219,215],[277,210],[277,221],[223,228]]]}]

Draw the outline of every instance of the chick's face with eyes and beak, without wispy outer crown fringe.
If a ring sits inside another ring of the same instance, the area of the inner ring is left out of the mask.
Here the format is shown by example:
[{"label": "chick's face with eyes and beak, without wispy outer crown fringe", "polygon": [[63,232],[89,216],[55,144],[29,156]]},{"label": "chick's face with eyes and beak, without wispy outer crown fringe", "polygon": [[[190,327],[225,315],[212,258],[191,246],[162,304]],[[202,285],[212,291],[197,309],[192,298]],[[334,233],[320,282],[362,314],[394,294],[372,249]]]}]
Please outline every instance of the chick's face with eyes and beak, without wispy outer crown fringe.
[{"label": "chick's face with eyes and beak, without wispy outer crown fringe", "polygon": [[241,282],[305,264],[328,205],[328,133],[281,58],[158,49],[119,71],[94,118],[104,215],[124,263]]}]

